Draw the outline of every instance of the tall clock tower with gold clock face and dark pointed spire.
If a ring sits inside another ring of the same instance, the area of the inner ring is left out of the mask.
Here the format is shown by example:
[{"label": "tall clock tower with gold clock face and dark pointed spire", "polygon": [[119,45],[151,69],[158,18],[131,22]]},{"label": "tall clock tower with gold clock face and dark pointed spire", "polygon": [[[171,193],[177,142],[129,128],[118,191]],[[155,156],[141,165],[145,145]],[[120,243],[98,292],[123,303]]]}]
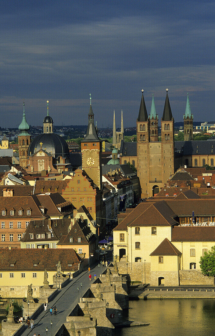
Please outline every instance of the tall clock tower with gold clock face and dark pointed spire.
[{"label": "tall clock tower with gold clock face and dark pointed spire", "polygon": [[94,125],[94,113],[91,105],[88,113],[87,133],[82,140],[82,170],[84,170],[94,183],[101,189],[102,185],[102,143]]}]

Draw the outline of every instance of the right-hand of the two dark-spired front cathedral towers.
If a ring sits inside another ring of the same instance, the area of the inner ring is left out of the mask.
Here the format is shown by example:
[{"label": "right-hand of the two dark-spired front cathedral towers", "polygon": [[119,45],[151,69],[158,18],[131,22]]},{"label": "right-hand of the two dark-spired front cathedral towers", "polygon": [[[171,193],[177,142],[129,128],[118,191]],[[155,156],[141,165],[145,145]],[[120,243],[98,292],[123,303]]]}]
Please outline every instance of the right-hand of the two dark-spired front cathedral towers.
[{"label": "right-hand of the two dark-spired front cathedral towers", "polygon": [[174,119],[169,103],[168,89],[163,117],[161,118],[161,169],[162,181],[165,183],[174,174]]}]

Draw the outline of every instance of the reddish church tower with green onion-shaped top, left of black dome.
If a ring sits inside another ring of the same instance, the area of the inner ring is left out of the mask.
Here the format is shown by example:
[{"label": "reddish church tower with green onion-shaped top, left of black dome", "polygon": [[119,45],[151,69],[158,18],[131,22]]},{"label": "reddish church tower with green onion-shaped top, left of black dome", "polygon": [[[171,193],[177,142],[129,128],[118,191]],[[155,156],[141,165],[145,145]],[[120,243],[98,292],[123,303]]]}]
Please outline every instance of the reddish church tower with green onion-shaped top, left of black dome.
[{"label": "reddish church tower with green onion-shaped top, left of black dome", "polygon": [[19,125],[20,134],[18,135],[19,165],[23,168],[26,168],[28,165],[28,148],[31,143],[31,135],[28,132],[29,129],[30,127],[26,122],[25,118],[24,99],[23,99],[23,115],[22,115],[22,122]]}]

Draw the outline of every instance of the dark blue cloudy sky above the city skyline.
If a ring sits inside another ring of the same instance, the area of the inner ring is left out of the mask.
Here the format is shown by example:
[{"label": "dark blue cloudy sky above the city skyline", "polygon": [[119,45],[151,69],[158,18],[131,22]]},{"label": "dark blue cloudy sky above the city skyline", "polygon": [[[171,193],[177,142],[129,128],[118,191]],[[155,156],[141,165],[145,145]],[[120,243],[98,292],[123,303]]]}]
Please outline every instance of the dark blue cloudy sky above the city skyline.
[{"label": "dark blue cloudy sky above the city skyline", "polygon": [[166,87],[175,121],[189,92],[194,120],[215,120],[215,1],[1,1],[0,125],[134,126],[141,89],[162,117]]}]

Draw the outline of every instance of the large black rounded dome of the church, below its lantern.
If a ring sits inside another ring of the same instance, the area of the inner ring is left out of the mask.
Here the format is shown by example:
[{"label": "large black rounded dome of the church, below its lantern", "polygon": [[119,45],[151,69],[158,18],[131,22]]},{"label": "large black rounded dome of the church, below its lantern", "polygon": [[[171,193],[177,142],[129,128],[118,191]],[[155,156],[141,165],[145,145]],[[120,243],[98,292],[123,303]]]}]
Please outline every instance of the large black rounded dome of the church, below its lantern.
[{"label": "large black rounded dome of the church, below its lantern", "polygon": [[38,135],[29,146],[29,156],[30,152],[33,154],[41,149],[41,142],[42,149],[48,153],[51,153],[56,159],[59,156],[62,158],[69,157],[69,148],[66,141],[60,135],[55,133],[43,133]]}]

